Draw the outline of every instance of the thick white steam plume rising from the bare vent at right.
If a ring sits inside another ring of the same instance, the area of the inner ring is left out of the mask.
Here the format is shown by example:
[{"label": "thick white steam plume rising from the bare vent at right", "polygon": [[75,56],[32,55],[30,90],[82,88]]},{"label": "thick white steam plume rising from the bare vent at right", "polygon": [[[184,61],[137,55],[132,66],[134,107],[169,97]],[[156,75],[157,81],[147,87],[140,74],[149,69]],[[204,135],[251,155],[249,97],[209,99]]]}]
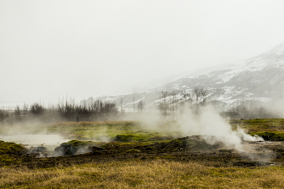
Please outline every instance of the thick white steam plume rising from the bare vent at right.
[{"label": "thick white steam plume rising from the bare vent at right", "polygon": [[185,109],[178,119],[178,123],[187,136],[202,135],[209,144],[221,142],[226,147],[244,152],[242,141],[264,141],[261,137],[251,136],[241,128],[233,131],[231,126],[210,106],[202,108],[201,114],[196,116],[191,109]]}]

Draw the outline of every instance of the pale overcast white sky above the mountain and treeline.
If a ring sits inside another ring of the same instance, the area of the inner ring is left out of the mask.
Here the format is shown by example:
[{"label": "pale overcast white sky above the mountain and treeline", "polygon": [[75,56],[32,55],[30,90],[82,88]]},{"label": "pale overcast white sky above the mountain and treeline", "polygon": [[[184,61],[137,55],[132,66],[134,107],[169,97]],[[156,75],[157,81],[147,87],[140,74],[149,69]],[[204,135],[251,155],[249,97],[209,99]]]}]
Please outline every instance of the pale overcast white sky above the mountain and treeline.
[{"label": "pale overcast white sky above the mountain and treeline", "polygon": [[0,0],[0,109],[124,94],[284,41],[284,1]]}]

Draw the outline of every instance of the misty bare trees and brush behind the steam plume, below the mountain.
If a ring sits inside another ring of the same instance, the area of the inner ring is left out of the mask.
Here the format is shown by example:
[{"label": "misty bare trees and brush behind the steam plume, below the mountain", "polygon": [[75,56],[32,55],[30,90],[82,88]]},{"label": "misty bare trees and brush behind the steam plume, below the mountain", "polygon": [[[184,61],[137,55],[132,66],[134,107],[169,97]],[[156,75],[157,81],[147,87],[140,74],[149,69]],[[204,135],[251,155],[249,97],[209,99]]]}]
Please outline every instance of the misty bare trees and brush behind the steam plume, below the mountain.
[{"label": "misty bare trees and brush behind the steam plume, below the mountain", "polygon": [[[266,108],[256,101],[246,101],[244,95],[237,103],[224,108],[224,103],[217,101],[213,94],[203,88],[195,87],[192,90],[161,91],[158,101],[160,118],[163,120],[176,120],[184,108],[189,108],[198,115],[202,107],[213,106],[220,112],[220,116],[230,119],[256,119],[256,118],[283,118],[283,115],[273,109]],[[214,94],[217,95],[217,94]]]}]

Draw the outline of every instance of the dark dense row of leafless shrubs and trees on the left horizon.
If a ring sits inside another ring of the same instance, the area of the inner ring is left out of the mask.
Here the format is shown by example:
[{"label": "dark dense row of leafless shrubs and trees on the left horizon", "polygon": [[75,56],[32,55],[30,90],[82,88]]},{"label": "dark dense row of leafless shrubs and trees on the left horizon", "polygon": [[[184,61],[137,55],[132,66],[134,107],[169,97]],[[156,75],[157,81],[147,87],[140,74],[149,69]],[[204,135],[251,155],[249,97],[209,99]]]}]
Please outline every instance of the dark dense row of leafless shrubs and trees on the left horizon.
[{"label": "dark dense row of leafless shrubs and trees on the left horizon", "polygon": [[0,110],[0,122],[35,121],[60,122],[60,121],[107,121],[116,119],[118,105],[115,102],[103,102],[101,100],[91,101],[83,105],[75,103],[75,99],[68,100],[67,97],[59,99],[55,105],[44,106],[41,102],[31,105],[24,103],[22,108],[16,106],[14,111]]}]

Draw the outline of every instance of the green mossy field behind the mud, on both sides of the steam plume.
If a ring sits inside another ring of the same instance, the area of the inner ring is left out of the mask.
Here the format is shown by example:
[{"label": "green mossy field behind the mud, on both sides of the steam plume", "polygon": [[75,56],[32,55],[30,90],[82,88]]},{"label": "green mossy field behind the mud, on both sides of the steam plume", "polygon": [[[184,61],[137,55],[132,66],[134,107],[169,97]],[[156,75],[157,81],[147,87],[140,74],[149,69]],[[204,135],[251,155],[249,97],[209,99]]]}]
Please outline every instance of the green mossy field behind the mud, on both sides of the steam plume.
[{"label": "green mossy field behind the mud, on both sides of the steam plume", "polygon": [[[230,120],[232,129],[237,126],[247,133],[264,131],[284,132],[284,119]],[[175,121],[145,125],[136,121],[68,122],[46,126],[49,133],[59,133],[69,139],[92,141],[162,141],[184,137]]]}]

